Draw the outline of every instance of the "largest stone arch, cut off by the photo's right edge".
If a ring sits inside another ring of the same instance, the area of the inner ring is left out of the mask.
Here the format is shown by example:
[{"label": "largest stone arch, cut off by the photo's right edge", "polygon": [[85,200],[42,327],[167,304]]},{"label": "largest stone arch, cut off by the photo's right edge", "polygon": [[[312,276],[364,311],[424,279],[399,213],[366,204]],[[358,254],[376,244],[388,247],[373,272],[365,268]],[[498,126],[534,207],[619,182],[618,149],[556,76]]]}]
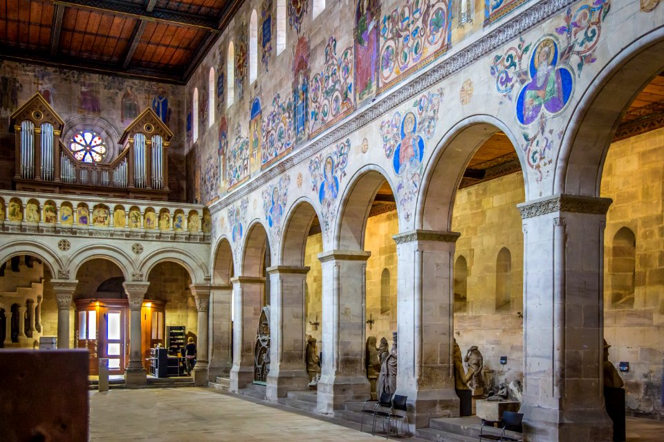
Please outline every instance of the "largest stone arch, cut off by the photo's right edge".
[{"label": "largest stone arch, cut off by the photo's right edge", "polygon": [[589,80],[562,138],[554,193],[600,195],[604,161],[620,119],[662,70],[664,27],[636,39]]}]

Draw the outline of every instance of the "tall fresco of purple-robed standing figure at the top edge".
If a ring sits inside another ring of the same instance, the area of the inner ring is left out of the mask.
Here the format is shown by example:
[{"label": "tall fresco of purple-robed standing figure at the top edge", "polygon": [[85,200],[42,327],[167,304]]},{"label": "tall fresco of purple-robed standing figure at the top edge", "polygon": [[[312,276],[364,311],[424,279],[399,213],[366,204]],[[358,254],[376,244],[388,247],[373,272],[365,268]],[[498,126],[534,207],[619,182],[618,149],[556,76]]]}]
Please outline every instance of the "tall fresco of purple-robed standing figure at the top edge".
[{"label": "tall fresco of purple-robed standing figure at the top edge", "polygon": [[374,97],[378,88],[380,0],[358,0],[355,12],[356,102]]}]

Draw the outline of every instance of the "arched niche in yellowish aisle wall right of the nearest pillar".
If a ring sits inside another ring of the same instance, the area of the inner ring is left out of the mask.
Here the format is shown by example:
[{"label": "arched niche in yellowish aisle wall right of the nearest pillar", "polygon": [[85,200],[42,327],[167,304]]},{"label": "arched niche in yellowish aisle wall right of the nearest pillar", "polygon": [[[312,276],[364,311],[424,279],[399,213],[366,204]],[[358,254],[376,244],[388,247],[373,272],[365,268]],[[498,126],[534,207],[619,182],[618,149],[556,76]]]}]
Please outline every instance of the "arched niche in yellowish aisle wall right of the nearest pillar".
[{"label": "arched niche in yellowish aisle wall right of the nearest pillar", "polygon": [[636,236],[622,227],[614,236],[609,258],[611,273],[611,306],[634,307],[634,278],[636,276]]}]

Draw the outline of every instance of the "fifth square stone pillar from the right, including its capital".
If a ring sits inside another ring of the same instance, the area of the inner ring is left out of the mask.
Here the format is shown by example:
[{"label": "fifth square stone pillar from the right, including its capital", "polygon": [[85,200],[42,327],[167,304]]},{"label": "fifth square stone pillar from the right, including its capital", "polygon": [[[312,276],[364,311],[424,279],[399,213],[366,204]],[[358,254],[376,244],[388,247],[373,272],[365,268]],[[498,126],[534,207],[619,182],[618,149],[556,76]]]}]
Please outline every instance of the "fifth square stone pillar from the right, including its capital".
[{"label": "fifth square stone pillar from the right, including its capital", "polygon": [[230,282],[233,284],[235,320],[229,390],[237,393],[254,380],[254,345],[263,307],[265,278],[238,276],[231,278]]}]

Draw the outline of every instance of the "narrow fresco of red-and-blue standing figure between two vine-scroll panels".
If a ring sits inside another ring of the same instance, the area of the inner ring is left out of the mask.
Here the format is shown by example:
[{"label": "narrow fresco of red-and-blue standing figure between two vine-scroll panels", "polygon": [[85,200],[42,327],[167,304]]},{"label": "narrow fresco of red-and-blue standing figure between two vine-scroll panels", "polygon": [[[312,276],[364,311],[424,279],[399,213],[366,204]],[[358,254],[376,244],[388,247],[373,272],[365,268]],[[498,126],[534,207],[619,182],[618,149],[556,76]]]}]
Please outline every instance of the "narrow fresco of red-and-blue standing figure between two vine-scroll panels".
[{"label": "narrow fresco of red-and-blue standing figure between two vine-scroll panels", "polygon": [[299,143],[306,140],[309,103],[309,44],[305,37],[297,40],[293,68],[293,127]]}]

